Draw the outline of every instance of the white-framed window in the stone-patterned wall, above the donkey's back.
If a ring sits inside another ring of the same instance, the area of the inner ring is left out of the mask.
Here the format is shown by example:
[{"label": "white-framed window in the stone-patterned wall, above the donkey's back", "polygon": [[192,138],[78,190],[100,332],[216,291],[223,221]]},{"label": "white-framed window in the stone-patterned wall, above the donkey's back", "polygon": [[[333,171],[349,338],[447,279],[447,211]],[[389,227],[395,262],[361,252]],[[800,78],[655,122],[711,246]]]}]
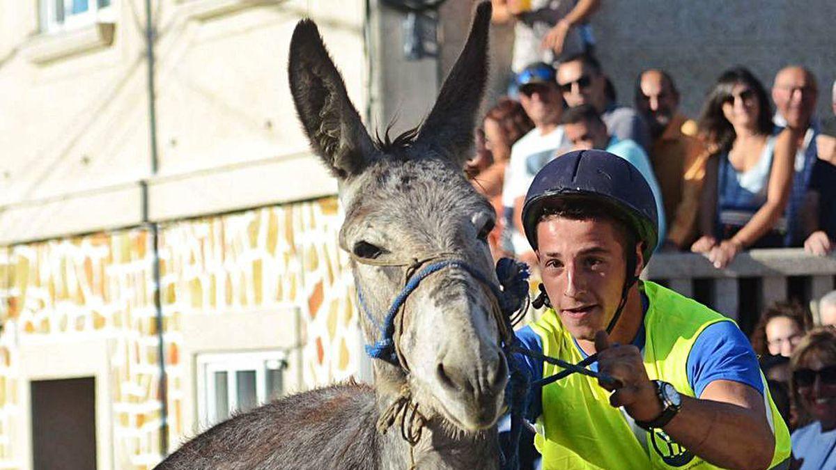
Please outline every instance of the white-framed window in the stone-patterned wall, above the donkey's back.
[{"label": "white-framed window in the stone-patterned wall, above the donkey's back", "polygon": [[197,408],[212,426],[233,411],[248,411],[282,396],[283,351],[197,355]]}]

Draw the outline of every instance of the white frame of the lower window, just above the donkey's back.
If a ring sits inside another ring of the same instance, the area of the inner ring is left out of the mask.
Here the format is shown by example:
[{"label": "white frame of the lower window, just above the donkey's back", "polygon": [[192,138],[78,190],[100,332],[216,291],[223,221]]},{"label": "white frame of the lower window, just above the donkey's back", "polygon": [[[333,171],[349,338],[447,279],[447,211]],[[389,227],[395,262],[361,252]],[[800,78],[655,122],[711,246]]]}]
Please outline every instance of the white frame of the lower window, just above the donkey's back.
[{"label": "white frame of the lower window, just above the donkey's back", "polygon": [[[216,372],[227,373],[227,404],[229,410],[224,416],[232,416],[238,410],[237,375],[243,370],[256,372],[256,405],[266,403],[270,398],[267,390],[267,370],[288,370],[288,355],[283,350],[247,351],[227,353],[203,353],[196,356],[197,362],[197,412],[201,426],[210,427],[221,421],[216,409]],[[284,381],[283,381],[284,384]]]}]

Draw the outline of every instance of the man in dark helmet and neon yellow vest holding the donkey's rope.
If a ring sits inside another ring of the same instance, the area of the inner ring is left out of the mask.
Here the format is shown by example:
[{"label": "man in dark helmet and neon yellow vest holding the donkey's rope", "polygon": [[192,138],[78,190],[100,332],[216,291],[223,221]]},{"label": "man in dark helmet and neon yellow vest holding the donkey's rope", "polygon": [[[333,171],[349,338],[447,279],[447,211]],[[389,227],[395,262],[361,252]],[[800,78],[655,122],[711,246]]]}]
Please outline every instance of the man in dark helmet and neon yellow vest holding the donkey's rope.
[{"label": "man in dark helmet and neon yellow vest holding the donkey's rope", "polygon": [[[523,228],[548,309],[517,331],[530,350],[611,380],[568,375],[533,391],[543,468],[787,468],[787,426],[737,325],[639,274],[659,243],[635,166],[573,151],[534,177]],[[555,365],[517,355],[536,381]]]}]

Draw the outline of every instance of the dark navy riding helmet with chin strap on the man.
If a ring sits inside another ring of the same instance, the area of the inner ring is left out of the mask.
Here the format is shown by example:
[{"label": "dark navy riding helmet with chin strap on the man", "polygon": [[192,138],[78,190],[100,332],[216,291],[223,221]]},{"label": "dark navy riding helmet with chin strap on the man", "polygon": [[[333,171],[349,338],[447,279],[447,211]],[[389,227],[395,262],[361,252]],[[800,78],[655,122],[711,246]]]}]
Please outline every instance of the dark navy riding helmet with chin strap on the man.
[{"label": "dark navy riding helmet with chin strap on the man", "polygon": [[[656,201],[645,177],[630,162],[608,151],[573,151],[550,161],[534,176],[523,205],[523,228],[528,243],[537,249],[537,224],[543,207],[556,200],[595,201],[609,206],[613,217],[630,223],[636,240],[645,244],[644,263],[659,242],[659,216]],[[632,253],[632,254],[631,254]],[[627,293],[635,277],[635,252],[627,253],[627,277],[621,290],[621,302],[607,325],[610,333],[627,302]],[[541,294],[533,301],[535,308],[551,307],[548,294],[540,284]]]}]

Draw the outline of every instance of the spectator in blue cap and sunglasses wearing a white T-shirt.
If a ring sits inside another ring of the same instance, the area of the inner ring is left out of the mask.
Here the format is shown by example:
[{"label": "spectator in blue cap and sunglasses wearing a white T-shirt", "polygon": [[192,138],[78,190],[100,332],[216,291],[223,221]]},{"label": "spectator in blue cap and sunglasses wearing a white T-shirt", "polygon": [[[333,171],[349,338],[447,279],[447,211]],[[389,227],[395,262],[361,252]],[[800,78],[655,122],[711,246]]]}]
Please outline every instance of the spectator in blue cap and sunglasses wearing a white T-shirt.
[{"label": "spectator in blue cap and sunglasses wearing a white T-shirt", "polygon": [[528,239],[523,236],[519,213],[534,175],[557,155],[558,149],[568,147],[568,140],[560,125],[563,100],[554,81],[553,67],[543,62],[528,65],[517,74],[517,87],[520,104],[534,128],[511,147],[502,187],[502,205],[507,222],[512,223],[507,223],[503,232],[506,241],[503,244],[517,258],[534,262],[536,257]]}]

